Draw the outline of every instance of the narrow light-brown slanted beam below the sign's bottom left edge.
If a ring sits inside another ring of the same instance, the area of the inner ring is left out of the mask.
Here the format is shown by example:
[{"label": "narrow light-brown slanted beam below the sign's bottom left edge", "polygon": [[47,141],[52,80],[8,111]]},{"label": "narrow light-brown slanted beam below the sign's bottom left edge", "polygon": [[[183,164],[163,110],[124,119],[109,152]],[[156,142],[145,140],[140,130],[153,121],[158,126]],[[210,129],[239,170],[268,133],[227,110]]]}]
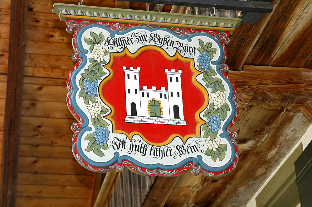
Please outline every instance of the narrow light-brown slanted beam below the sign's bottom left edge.
[{"label": "narrow light-brown slanted beam below the sign's bottom left edge", "polygon": [[105,203],[108,200],[108,197],[110,196],[110,192],[113,186],[115,185],[118,175],[119,172],[117,172],[116,170],[112,170],[106,173],[93,207],[103,207],[105,205]]}]

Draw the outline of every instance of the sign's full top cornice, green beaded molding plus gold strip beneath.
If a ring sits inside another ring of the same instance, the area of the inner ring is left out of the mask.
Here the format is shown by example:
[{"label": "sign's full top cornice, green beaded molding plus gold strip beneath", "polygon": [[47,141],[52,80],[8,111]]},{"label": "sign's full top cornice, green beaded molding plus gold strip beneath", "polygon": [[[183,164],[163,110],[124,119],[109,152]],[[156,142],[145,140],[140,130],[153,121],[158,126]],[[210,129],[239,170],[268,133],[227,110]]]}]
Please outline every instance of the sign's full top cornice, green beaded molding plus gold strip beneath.
[{"label": "sign's full top cornice, green beaded molding plus gold strip beneath", "polygon": [[238,28],[241,24],[241,19],[236,18],[92,7],[61,3],[55,3],[53,5],[52,13],[58,14],[61,21],[66,21],[66,18],[84,20],[97,20],[98,18],[101,18],[101,21],[103,21],[104,17],[105,21],[111,22],[118,21],[126,23],[131,20],[131,22],[137,21],[137,23],[143,23],[142,21],[144,21],[144,24],[149,22],[150,25],[165,24],[168,26],[168,24],[172,24],[172,26],[187,28],[230,31],[231,34],[234,29]]}]

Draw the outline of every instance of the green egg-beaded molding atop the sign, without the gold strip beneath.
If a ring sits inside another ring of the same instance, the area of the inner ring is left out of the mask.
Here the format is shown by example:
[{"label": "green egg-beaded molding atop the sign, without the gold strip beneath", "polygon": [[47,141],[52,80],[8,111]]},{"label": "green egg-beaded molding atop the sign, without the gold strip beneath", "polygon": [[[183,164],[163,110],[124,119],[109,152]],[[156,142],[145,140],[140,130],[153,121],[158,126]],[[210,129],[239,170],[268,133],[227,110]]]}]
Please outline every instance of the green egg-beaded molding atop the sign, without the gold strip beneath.
[{"label": "green egg-beaded molding atop the sign, without the gold strip beneath", "polygon": [[241,24],[241,19],[236,18],[188,15],[167,12],[151,12],[132,9],[93,7],[62,3],[54,3],[52,13],[58,14],[61,21],[65,21],[65,19],[61,18],[61,14],[66,14],[85,16],[86,18],[88,16],[95,16],[115,19],[167,22],[171,24],[177,24],[177,26],[179,25],[180,27],[183,27],[183,24],[223,28],[225,27],[225,30],[226,28],[238,28],[238,26]]}]

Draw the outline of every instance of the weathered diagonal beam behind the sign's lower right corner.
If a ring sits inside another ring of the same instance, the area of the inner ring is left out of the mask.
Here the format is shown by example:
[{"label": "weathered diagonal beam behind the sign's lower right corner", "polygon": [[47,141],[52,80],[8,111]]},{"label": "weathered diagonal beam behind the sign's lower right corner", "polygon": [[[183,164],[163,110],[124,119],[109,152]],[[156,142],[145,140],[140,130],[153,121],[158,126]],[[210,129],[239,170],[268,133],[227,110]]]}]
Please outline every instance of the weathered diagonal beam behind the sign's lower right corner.
[{"label": "weathered diagonal beam behind the sign's lower right corner", "polygon": [[284,113],[285,108],[269,110],[257,103],[249,103],[246,108],[240,108],[239,111],[239,118],[231,129],[238,133],[236,142],[240,153],[238,165],[233,172],[223,177],[193,176],[191,173],[185,173],[180,176],[164,206],[231,206],[212,205],[212,203],[222,195],[231,185],[234,177],[244,169],[249,158],[265,140],[266,134]]}]

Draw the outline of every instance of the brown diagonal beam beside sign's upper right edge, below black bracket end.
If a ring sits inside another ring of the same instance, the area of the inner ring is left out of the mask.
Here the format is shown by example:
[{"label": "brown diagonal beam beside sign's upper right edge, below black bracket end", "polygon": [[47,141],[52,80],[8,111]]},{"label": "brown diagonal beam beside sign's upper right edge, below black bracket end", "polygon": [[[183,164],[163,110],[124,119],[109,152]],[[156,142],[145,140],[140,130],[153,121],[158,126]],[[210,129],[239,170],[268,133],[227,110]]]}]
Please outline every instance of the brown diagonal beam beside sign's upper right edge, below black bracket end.
[{"label": "brown diagonal beam beside sign's upper right edge, below black bracket end", "polygon": [[231,42],[227,45],[227,64],[230,70],[241,69],[271,16],[278,12],[282,14],[283,7],[277,7],[279,2],[280,0],[273,0],[273,11],[263,14],[256,25],[241,24],[234,31]]}]

